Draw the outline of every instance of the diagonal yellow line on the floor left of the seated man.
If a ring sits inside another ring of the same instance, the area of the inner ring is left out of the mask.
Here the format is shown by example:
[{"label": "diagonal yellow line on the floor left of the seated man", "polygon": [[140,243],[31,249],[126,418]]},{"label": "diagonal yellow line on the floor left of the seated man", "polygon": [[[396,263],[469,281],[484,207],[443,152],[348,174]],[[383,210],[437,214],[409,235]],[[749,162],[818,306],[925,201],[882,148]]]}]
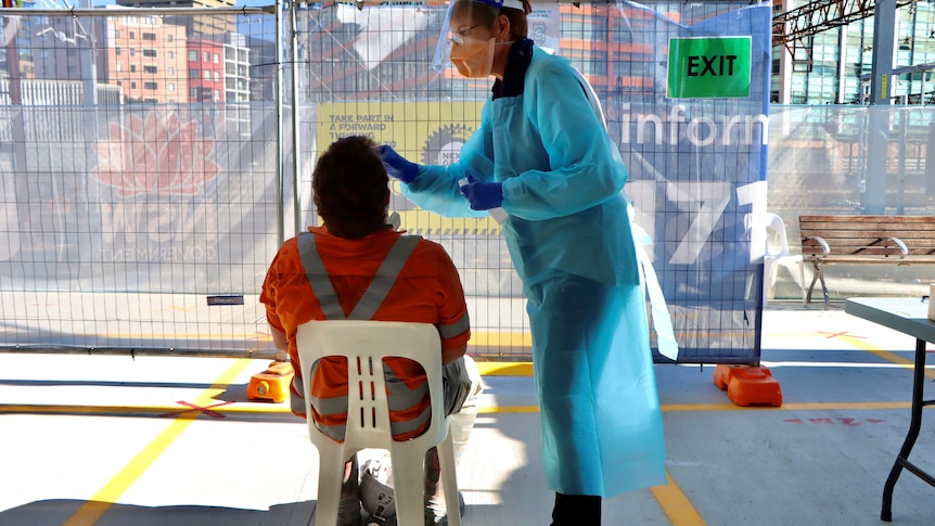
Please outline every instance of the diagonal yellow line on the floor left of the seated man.
[{"label": "diagonal yellow line on the floor left of the seated man", "polygon": [[[228,385],[232,384],[247,365],[251,360],[241,359],[235,361],[223,374],[215,381],[214,385],[205,389],[201,396],[193,402],[195,406],[206,407],[213,401],[213,397],[225,392]],[[177,409],[177,408],[172,408]],[[201,411],[196,412],[200,415]],[[140,451],[133,460],[117,473],[107,484],[101,488],[91,499],[86,502],[78,511],[72,515],[63,526],[90,526],[97,523],[104,513],[117,502],[117,499],[124,495],[132,484],[155,462],[155,460],[192,424],[197,416],[192,418],[189,413],[181,413],[181,418],[176,418],[165,431],[153,439]]]}]

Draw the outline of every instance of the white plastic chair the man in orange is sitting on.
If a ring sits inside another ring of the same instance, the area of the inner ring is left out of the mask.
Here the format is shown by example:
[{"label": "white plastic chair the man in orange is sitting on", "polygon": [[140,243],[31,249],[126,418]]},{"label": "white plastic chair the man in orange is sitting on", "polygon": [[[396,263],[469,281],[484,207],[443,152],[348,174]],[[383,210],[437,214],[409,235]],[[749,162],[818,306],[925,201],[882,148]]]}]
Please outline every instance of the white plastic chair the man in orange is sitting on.
[{"label": "white plastic chair the man in orange is sitting on", "polygon": [[[299,325],[296,344],[306,389],[308,436],[318,448],[320,463],[315,525],[334,526],[337,522],[344,463],[364,448],[389,451],[398,524],[422,525],[425,509],[423,462],[426,451],[437,446],[448,524],[460,526],[454,449],[445,414],[441,342],[435,325],[358,320],[310,321]],[[344,442],[336,442],[320,432],[311,416],[311,365],[325,356],[347,358],[349,396]],[[396,441],[389,431],[389,410],[383,379],[385,357],[417,361],[428,377],[432,419],[425,433],[411,440]],[[360,396],[361,393],[372,393],[373,396]]]}]

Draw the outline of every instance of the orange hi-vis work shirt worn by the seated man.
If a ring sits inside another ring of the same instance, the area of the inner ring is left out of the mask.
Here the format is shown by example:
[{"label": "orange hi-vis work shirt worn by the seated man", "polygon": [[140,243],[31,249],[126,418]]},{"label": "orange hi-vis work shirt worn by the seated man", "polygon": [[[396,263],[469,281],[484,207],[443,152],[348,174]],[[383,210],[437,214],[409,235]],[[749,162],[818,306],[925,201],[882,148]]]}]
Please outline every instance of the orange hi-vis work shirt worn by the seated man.
[{"label": "orange hi-vis work shirt worn by the seated man", "polygon": [[[351,315],[374,282],[377,269],[404,235],[388,228],[360,240],[337,238],[323,227],[310,227],[308,231],[310,234],[303,235],[313,235],[317,256],[344,317]],[[289,339],[289,356],[295,370],[290,389],[292,411],[303,418],[306,416],[303,369],[295,346],[295,333],[307,321],[334,319],[325,312],[335,308],[333,303],[322,305],[319,295],[326,296],[330,291],[316,291],[309,283],[309,271],[311,269],[303,265],[298,236],[286,241],[267,271],[259,298],[266,305],[270,325],[285,333]],[[334,302],[335,298],[324,297],[323,300]],[[467,306],[458,270],[440,245],[421,238],[396,274],[383,302],[369,319],[432,323],[438,328],[443,349],[461,347],[471,337]],[[415,362],[387,360],[384,369],[411,392],[425,392],[425,373]],[[316,424],[326,433],[328,429],[343,428],[347,419],[347,364],[344,358],[321,360],[315,369],[309,390]],[[427,396],[419,397],[410,407],[399,408],[393,403],[394,395],[395,392],[392,392],[390,422],[394,424],[394,437],[405,440],[418,436],[424,429],[424,425],[419,422],[428,408]],[[316,401],[328,405],[329,400],[337,399],[344,402],[343,412],[316,409]],[[408,428],[408,422],[417,427]],[[343,432],[340,436],[343,436]],[[340,439],[340,436],[333,437]]]}]

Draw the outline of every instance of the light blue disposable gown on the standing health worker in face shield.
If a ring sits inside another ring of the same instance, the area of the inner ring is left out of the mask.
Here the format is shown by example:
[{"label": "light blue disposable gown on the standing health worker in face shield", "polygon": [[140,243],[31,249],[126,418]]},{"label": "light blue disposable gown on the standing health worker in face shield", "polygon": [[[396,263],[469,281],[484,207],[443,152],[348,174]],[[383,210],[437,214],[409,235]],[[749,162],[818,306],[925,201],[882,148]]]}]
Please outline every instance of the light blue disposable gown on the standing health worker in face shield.
[{"label": "light blue disposable gown on the standing health worker in face shield", "polygon": [[428,210],[476,216],[458,180],[470,174],[503,184],[503,236],[528,299],[549,488],[607,497],[664,485],[627,170],[571,64],[531,51],[521,93],[488,100],[460,161],[420,166],[405,193]]}]

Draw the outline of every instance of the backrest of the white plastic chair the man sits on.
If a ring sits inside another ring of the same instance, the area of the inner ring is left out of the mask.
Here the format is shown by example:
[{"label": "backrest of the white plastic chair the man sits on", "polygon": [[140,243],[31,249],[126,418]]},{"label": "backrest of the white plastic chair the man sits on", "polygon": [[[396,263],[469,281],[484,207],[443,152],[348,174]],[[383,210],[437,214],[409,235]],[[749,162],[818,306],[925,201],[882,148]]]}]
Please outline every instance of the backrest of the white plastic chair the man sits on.
[{"label": "backrest of the white plastic chair the man sits on", "polygon": [[311,367],[326,356],[346,357],[348,363],[346,452],[363,448],[392,450],[395,446],[383,376],[383,359],[388,357],[418,362],[428,380],[431,423],[425,433],[407,444],[427,449],[445,439],[448,426],[441,383],[441,341],[435,325],[370,320],[310,321],[299,325],[296,345],[306,390],[309,439],[316,446],[323,440],[333,444],[333,439],[315,425],[310,407]]}]

